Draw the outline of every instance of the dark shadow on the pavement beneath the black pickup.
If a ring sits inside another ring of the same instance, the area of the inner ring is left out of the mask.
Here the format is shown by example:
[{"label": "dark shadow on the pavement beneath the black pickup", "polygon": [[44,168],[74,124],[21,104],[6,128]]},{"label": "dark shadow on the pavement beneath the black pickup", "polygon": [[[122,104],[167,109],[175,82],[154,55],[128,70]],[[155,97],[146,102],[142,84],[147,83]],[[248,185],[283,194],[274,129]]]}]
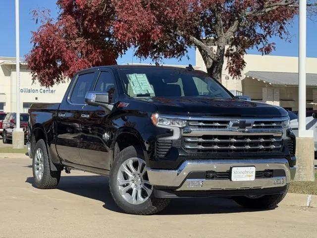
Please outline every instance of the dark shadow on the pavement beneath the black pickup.
[{"label": "dark shadow on the pavement beneath the black pickup", "polygon": [[[33,183],[29,177],[25,182]],[[104,208],[123,213],[112,200],[108,178],[104,176],[62,176],[56,189],[104,202]],[[192,215],[254,212],[235,203],[230,197],[172,199],[159,215]]]}]

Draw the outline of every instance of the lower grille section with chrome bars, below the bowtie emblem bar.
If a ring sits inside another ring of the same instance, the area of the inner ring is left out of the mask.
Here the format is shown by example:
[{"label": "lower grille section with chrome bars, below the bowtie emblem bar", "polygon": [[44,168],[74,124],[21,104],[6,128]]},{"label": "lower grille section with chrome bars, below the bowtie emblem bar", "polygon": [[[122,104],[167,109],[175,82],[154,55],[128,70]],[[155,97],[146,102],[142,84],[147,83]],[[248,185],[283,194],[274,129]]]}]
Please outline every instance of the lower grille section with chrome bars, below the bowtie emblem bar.
[{"label": "lower grille section with chrome bars, below the bowtie emblem bar", "polygon": [[272,135],[205,135],[184,137],[184,149],[195,152],[256,152],[280,150],[282,138]]}]

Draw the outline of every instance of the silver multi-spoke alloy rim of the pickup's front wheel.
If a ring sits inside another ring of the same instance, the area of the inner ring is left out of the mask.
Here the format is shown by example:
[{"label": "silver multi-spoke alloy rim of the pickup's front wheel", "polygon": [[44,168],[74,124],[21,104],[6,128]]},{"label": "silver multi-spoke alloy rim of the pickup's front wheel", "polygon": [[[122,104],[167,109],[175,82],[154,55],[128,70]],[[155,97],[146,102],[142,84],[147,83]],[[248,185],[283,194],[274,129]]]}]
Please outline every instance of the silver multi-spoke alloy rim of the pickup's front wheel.
[{"label": "silver multi-spoke alloy rim of the pickup's front wheel", "polygon": [[122,198],[130,204],[145,202],[153,192],[149,182],[145,161],[130,158],[124,161],[117,174],[117,186]]}]

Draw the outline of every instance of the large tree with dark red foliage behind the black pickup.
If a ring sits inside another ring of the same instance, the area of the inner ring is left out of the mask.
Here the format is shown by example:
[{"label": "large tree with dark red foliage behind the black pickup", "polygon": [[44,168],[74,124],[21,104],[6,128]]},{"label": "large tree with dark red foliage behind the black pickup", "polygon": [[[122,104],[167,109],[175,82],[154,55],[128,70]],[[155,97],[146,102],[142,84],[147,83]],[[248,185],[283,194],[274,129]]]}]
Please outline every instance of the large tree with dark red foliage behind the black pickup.
[{"label": "large tree with dark red foliage behind the black pickup", "polygon": [[[316,0],[308,3],[316,9]],[[275,45],[270,38],[289,39],[287,25],[298,13],[298,0],[57,0],[57,5],[57,21],[42,20],[27,55],[33,79],[45,86],[85,67],[115,63],[131,46],[137,57],[157,62],[186,56],[194,46],[215,79],[221,80],[225,58],[230,75],[239,77],[246,50],[269,54]]]}]

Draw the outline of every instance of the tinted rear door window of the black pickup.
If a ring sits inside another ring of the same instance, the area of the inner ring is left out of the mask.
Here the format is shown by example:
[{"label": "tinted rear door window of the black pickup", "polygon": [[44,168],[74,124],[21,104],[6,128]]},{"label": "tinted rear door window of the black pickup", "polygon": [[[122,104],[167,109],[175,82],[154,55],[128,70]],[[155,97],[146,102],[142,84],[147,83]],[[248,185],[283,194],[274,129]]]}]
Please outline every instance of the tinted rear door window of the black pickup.
[{"label": "tinted rear door window of the black pickup", "polygon": [[79,75],[70,97],[70,102],[75,104],[84,104],[85,95],[89,91],[94,79],[94,73]]}]

